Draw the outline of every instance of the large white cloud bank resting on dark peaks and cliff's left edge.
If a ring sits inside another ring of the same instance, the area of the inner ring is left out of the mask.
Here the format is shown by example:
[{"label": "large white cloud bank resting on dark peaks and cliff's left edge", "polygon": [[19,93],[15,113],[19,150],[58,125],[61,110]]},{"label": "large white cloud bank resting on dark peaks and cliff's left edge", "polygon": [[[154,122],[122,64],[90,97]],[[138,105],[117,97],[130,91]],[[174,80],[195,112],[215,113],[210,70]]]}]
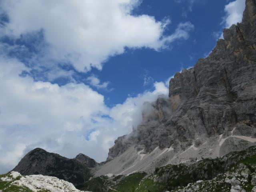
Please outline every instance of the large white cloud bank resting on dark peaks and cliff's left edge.
[{"label": "large white cloud bank resting on dark peaks and cliff's left edge", "polygon": [[14,59],[1,58],[0,66],[0,173],[36,147],[68,158],[82,152],[105,160],[114,140],[141,122],[144,102],[168,94],[163,82],[155,82],[154,91],[108,108],[104,97],[84,84],[34,82],[19,76],[30,69]]}]

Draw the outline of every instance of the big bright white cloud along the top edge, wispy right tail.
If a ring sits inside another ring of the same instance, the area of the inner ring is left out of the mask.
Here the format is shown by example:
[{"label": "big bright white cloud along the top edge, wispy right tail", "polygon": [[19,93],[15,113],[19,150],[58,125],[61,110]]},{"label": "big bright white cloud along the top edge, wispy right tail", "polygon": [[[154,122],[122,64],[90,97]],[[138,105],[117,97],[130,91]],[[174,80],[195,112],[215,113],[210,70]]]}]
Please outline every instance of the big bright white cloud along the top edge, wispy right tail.
[{"label": "big bright white cloud along the top edge, wispy right tail", "polygon": [[104,61],[126,47],[159,50],[188,38],[192,24],[180,24],[175,34],[164,36],[170,20],[132,15],[139,4],[139,0],[3,0],[0,6],[9,22],[2,34],[18,38],[42,31],[48,57],[71,62],[78,71],[101,69]]}]

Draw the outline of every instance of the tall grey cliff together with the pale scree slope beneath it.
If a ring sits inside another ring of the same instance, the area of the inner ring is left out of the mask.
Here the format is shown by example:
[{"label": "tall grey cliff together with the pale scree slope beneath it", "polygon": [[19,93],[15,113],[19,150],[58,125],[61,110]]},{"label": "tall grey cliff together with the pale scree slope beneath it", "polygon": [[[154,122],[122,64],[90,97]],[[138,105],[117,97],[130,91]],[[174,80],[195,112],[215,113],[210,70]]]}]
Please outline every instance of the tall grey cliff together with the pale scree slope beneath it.
[{"label": "tall grey cliff together with the pale scree slope beneath it", "polygon": [[246,0],[242,23],[223,36],[208,57],[175,74],[169,96],[148,104],[153,110],[115,141],[96,176],[152,173],[256,145],[255,0]]}]

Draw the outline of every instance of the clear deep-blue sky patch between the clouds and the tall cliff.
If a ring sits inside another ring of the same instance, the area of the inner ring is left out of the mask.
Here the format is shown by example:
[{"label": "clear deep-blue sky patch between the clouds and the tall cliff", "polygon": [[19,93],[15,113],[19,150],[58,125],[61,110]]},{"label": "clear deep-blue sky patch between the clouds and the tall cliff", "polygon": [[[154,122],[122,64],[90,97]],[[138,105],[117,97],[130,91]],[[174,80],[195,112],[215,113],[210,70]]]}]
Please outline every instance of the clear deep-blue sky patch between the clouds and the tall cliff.
[{"label": "clear deep-blue sky patch between the clouds and the tall cliff", "polygon": [[[172,33],[180,22],[190,21],[195,29],[190,32],[188,40],[180,40],[168,48],[155,51],[149,48],[126,49],[124,54],[111,57],[104,62],[102,70],[93,68],[88,74],[94,74],[102,82],[110,82],[108,90],[97,90],[106,97],[106,104],[114,106],[122,103],[128,96],[136,96],[148,89],[153,89],[155,81],[166,81],[181,68],[194,66],[198,58],[204,58],[216,44],[214,32],[222,30],[221,24],[226,15],[225,1],[195,1],[192,5],[184,0],[142,1],[134,14],[148,14],[156,20],[168,17],[171,24],[165,33]],[[189,7],[192,10],[189,11]],[[182,13],[186,12],[186,16]],[[144,77],[149,82],[144,84]],[[112,90],[112,91],[109,91]]]}]

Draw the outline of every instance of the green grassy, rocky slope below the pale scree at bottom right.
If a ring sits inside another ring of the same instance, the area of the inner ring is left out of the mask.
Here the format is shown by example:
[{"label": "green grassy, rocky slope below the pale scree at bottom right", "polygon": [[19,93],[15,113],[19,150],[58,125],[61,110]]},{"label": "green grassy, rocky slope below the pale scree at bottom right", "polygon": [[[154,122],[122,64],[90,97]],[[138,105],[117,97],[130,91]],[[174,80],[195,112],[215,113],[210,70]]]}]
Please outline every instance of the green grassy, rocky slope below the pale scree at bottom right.
[{"label": "green grassy, rocky slope below the pale scree at bottom right", "polygon": [[[191,187],[198,192],[230,192],[231,185],[225,182],[226,177],[232,179],[231,173],[239,175],[244,171],[248,172],[249,177],[237,176],[237,179],[245,180],[240,186],[246,192],[251,192],[253,186],[250,180],[256,173],[256,147],[232,152],[224,158],[203,159],[192,165],[178,164],[156,168],[154,175],[134,173],[114,178],[98,177],[86,182],[86,187],[82,189],[93,192],[164,192]],[[153,178],[159,182],[154,182]],[[202,181],[197,182],[198,180]]]}]

